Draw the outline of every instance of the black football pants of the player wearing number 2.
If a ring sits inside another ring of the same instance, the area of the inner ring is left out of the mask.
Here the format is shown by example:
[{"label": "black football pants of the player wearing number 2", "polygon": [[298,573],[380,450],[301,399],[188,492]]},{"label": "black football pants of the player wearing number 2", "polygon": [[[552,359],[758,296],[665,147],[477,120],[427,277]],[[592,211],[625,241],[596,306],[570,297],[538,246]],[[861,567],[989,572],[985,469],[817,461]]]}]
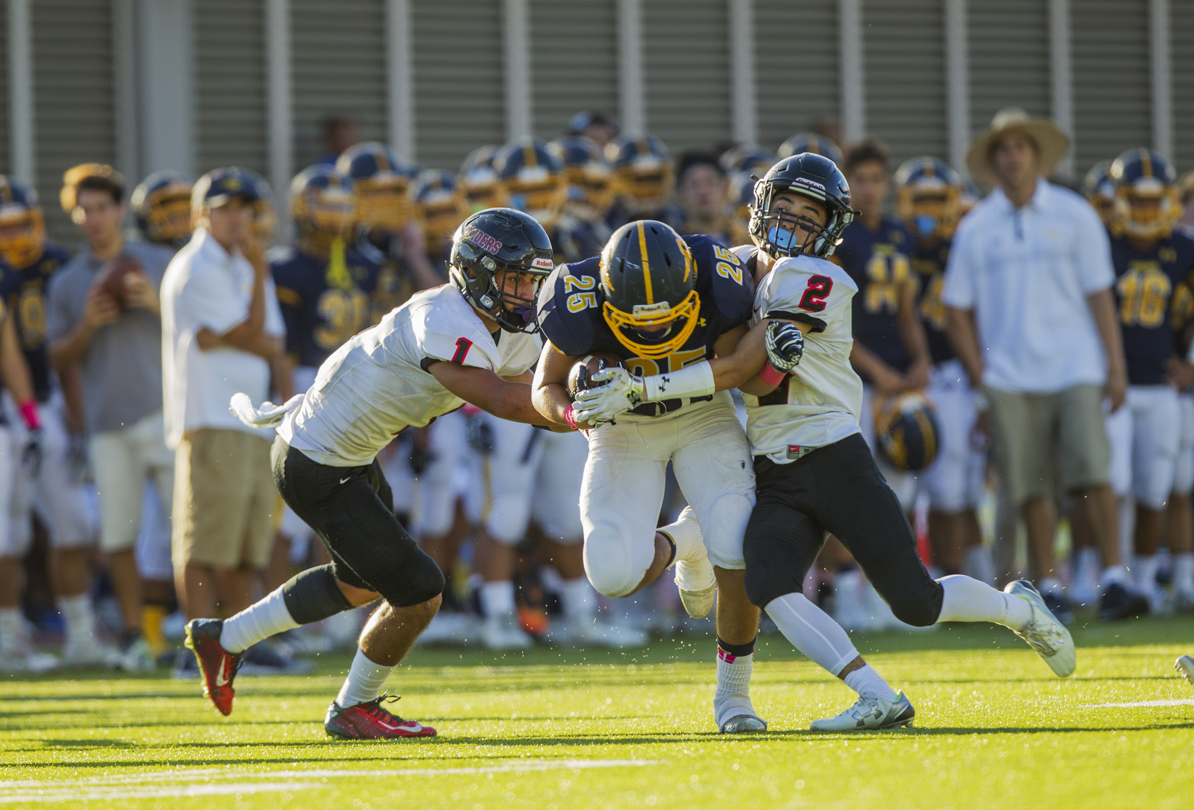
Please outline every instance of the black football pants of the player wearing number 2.
[{"label": "black football pants of the player wearing number 2", "polygon": [[941,585],[916,554],[899,499],[855,433],[789,464],[755,458],[757,500],[746,524],[746,595],[765,607],[800,593],[832,533],[901,622],[928,626],[941,614]]}]

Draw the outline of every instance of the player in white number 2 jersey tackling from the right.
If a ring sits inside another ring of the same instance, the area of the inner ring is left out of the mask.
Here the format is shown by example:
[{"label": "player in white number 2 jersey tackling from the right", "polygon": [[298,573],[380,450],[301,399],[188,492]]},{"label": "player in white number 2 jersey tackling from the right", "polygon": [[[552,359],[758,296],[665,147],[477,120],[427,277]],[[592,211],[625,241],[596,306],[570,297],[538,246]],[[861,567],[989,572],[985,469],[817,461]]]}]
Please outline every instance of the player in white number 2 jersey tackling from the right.
[{"label": "player in white number 2 jersey tackling from the right", "polygon": [[807,153],[781,160],[755,186],[750,233],[757,247],[737,251],[756,279],[752,328],[737,350],[709,361],[703,388],[698,366],[654,378],[611,370],[613,381],[589,400],[608,416],[650,401],[664,383],[689,395],[736,387],[746,395],[757,482],[743,544],[746,593],[801,653],[858,693],[850,709],[816,721],[819,731],[906,725],[915,716],[907,698],[801,593],[826,532],[850,550],[900,620],[995,622],[1024,638],[1058,675],[1075,668],[1070,632],[1030,583],[1013,582],[1001,593],[962,575],[933,580],[916,554],[899,499],[860,434],[862,382],[850,366],[856,286],[824,259],[853,214],[849,186],[831,161]]}]

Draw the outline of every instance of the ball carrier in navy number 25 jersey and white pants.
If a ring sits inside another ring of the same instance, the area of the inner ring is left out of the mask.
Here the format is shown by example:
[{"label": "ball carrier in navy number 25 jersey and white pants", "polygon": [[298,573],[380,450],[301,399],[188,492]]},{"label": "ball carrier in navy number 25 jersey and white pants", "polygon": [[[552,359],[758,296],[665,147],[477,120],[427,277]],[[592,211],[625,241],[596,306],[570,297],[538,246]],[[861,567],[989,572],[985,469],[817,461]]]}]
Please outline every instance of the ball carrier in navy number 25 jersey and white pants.
[{"label": "ball carrier in navy number 25 jersey and white pants", "polygon": [[[694,617],[708,614],[720,588],[714,719],[725,732],[767,728],[750,701],[758,610],[743,585],[753,476],[730,392],[714,394],[710,385],[706,395],[670,395],[660,388],[652,402],[614,421],[586,422],[566,382],[592,352],[614,353],[629,373],[656,379],[689,365],[707,371],[704,360],[730,353],[746,333],[752,292],[738,258],[709,236],[681,237],[650,219],[627,223],[599,258],[561,265],[547,280],[538,298],[547,344],[533,385],[540,413],[589,431],[580,517],[593,587],[627,596],[675,563]],[[689,506],[657,531],[669,460]]]}]

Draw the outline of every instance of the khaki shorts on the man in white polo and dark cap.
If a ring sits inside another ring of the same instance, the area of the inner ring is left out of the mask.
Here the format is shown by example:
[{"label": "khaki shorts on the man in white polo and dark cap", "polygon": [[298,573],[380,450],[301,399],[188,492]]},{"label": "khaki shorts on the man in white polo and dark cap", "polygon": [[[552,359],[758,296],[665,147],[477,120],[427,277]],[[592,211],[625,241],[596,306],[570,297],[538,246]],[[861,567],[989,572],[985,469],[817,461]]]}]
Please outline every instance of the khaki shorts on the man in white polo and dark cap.
[{"label": "khaki shorts on the man in white polo and dark cap", "polygon": [[277,502],[269,441],[234,429],[187,433],[174,451],[174,567],[265,568]]}]

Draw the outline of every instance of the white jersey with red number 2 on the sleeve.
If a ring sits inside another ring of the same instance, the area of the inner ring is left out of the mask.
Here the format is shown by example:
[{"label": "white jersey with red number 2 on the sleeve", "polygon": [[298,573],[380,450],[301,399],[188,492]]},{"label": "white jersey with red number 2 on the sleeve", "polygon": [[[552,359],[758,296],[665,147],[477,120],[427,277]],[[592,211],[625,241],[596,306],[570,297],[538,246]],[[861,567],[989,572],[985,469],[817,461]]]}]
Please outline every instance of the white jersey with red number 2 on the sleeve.
[{"label": "white jersey with red number 2 on the sleeve", "polygon": [[[734,253],[747,262],[757,249],[741,246]],[[858,432],[862,381],[850,365],[850,301],[857,291],[844,270],[805,255],[780,259],[756,285],[751,327],[780,317],[811,328],[790,377],[768,396],[743,394],[753,456],[786,464]]]}]

